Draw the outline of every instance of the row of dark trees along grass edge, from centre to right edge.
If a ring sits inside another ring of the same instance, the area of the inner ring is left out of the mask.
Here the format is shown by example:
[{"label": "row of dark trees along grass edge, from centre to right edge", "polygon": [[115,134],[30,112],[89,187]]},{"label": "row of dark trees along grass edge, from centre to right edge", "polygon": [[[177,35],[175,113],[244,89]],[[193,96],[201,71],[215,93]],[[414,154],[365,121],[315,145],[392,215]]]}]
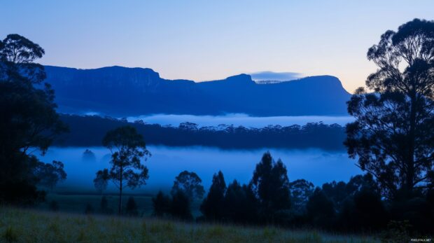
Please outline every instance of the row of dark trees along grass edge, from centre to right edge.
[{"label": "row of dark trees along grass edge, from centre to right edge", "polygon": [[160,191],[153,197],[153,215],[191,221],[191,202],[202,200],[197,221],[343,232],[380,232],[395,226],[391,222],[412,225],[409,231],[430,232],[434,227],[432,190],[412,202],[385,200],[369,173],[353,176],[347,183],[332,181],[314,187],[304,179],[289,181],[286,166],[268,152],[247,184],[237,180],[227,184],[223,172],[217,172],[207,195],[203,194],[199,176],[181,172],[169,195]]}]

